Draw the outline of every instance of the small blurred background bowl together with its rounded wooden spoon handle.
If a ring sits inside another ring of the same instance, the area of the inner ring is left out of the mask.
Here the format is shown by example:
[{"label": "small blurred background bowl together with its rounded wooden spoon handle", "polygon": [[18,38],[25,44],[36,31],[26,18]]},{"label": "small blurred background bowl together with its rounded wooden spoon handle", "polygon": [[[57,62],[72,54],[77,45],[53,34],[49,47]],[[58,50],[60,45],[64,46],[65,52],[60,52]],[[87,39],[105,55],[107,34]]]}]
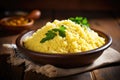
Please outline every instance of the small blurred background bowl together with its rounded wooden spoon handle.
[{"label": "small blurred background bowl together with its rounded wooden spoon handle", "polygon": [[41,15],[39,10],[33,10],[26,16],[11,16],[0,20],[0,28],[2,31],[18,33],[23,30],[33,28],[34,21]]}]

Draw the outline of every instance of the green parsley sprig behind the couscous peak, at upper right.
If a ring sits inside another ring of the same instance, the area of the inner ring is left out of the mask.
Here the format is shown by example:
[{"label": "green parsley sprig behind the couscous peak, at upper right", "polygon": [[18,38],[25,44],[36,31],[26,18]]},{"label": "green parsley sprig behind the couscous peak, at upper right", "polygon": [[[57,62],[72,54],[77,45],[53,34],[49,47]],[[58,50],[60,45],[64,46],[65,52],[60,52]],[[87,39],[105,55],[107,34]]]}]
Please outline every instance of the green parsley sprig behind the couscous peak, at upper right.
[{"label": "green parsley sprig behind the couscous peak, at upper right", "polygon": [[75,18],[71,17],[69,18],[69,20],[75,22],[76,24],[89,27],[88,20],[85,17],[75,17]]}]

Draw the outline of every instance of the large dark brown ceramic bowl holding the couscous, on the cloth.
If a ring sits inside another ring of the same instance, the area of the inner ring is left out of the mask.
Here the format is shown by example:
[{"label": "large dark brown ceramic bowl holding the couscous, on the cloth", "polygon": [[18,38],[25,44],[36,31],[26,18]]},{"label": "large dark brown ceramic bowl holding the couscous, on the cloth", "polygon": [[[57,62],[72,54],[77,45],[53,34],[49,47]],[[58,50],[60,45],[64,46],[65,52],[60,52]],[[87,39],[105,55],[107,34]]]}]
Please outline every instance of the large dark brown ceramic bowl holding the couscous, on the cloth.
[{"label": "large dark brown ceramic bowl holding the couscous, on the cloth", "polygon": [[112,38],[98,30],[95,30],[100,36],[105,38],[105,44],[97,49],[86,52],[77,52],[74,54],[46,54],[44,52],[35,52],[24,47],[23,41],[26,37],[31,36],[35,31],[28,31],[21,34],[17,40],[16,45],[21,54],[27,56],[29,59],[40,64],[52,64],[58,67],[72,68],[92,64],[112,43]]}]

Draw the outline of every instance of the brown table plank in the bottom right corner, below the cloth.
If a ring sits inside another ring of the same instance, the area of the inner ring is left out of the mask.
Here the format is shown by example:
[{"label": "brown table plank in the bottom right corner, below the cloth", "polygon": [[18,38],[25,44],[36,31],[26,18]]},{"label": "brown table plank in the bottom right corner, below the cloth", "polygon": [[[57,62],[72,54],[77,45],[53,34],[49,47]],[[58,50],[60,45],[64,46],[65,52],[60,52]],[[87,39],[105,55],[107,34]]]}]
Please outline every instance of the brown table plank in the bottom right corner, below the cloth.
[{"label": "brown table plank in the bottom right corner, below the cloth", "polygon": [[94,70],[96,80],[120,80],[120,66]]}]

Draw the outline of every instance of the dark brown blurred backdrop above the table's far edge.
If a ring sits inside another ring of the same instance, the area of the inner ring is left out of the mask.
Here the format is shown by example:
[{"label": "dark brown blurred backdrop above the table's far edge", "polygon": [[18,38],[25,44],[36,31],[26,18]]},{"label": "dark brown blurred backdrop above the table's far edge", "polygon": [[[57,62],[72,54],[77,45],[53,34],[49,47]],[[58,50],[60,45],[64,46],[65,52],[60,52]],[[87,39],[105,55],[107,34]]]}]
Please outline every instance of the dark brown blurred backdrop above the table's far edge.
[{"label": "dark brown blurred backdrop above the table's far edge", "polygon": [[[119,0],[1,0],[0,17],[11,15],[14,11],[39,9],[42,13],[56,11],[116,12],[119,15]],[[71,14],[71,13],[70,13]],[[44,15],[44,14],[43,14]]]}]

